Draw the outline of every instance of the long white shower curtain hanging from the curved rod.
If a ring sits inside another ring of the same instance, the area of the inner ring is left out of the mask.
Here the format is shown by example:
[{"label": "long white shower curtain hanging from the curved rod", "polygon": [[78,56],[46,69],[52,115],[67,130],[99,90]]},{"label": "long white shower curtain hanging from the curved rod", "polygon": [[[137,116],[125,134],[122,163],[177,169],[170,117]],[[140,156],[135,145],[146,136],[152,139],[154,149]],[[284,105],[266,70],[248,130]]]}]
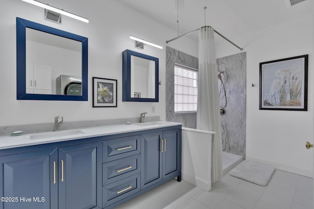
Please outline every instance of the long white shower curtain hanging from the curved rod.
[{"label": "long white shower curtain hanging from the curved rod", "polygon": [[215,183],[222,178],[222,141],[217,63],[212,27],[202,27],[199,31],[198,63],[197,129],[216,132],[211,155],[211,181]]}]

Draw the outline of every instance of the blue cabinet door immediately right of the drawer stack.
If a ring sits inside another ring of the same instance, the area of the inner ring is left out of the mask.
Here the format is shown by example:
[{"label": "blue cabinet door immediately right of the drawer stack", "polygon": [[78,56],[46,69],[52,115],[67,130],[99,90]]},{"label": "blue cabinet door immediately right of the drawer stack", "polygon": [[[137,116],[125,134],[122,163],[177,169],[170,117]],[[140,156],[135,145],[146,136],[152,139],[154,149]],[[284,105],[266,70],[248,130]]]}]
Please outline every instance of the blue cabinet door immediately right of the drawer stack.
[{"label": "blue cabinet door immediately right of the drawer stack", "polygon": [[162,180],[161,137],[162,132],[153,132],[141,136],[141,189]]}]

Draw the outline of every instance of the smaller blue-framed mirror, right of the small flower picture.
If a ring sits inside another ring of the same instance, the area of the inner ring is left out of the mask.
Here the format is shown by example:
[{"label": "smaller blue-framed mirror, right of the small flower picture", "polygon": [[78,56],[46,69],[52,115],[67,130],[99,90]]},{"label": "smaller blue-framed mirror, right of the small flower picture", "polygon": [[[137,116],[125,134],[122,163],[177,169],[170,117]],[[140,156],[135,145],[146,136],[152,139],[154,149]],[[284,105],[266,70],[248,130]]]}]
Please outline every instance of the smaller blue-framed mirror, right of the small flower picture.
[{"label": "smaller blue-framed mirror, right of the small flower picture", "polygon": [[122,101],[158,102],[159,59],[129,49],[122,59]]}]

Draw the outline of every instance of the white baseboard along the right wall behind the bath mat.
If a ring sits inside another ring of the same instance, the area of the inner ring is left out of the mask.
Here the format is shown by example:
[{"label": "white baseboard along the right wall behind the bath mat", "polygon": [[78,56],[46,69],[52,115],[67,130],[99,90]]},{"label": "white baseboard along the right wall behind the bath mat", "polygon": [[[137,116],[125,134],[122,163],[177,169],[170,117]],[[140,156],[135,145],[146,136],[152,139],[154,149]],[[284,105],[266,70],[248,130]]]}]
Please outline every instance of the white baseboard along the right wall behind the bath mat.
[{"label": "white baseboard along the right wall behind the bath mat", "polygon": [[251,157],[251,156],[248,156],[248,155],[245,156],[245,160],[246,161],[256,161],[256,162],[268,164],[268,165],[271,165],[274,168],[279,169],[279,170],[284,170],[284,171],[288,171],[290,173],[295,173],[295,174],[299,174],[299,175],[302,175],[302,176],[307,176],[307,177],[313,178],[313,170],[306,170],[306,169],[298,168],[298,167],[295,167],[295,166],[292,166],[292,165],[271,162],[271,161],[267,161],[267,160],[264,160],[264,159]]}]

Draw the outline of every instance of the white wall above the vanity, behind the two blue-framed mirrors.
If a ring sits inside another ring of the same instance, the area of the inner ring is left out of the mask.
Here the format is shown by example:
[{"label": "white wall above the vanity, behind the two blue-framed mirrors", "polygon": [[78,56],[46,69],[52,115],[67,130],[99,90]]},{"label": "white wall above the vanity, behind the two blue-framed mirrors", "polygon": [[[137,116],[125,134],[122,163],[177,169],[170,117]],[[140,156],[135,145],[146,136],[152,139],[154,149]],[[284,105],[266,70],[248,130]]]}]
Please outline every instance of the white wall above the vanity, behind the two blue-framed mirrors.
[{"label": "white wall above the vanity, behind the two blue-framed mirrors", "polygon": [[[165,120],[165,41],[176,31],[141,15],[116,0],[47,0],[89,19],[83,23],[62,16],[62,24],[44,20],[44,9],[21,0],[2,0],[0,8],[0,126],[53,122],[54,116],[65,121],[101,120],[113,118],[160,116]],[[16,100],[16,17],[45,24],[88,37],[88,101]],[[136,49],[130,35],[163,46]],[[184,44],[183,44],[184,43]],[[197,53],[197,45],[188,38],[168,46]],[[131,49],[159,58],[159,102],[122,102],[122,51]],[[92,77],[118,80],[118,107],[92,108]],[[152,113],[151,106],[156,106]]]}]

